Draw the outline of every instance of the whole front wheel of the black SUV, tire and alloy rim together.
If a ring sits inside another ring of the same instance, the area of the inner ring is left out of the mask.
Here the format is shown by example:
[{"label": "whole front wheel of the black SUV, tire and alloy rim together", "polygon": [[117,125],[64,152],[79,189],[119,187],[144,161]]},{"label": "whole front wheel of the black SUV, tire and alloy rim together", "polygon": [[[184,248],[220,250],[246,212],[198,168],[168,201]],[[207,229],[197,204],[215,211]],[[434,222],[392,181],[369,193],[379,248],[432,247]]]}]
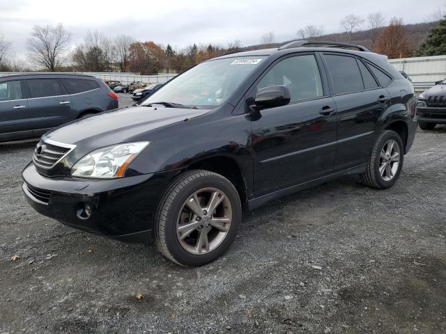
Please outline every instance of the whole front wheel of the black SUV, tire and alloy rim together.
[{"label": "whole front wheel of the black SUV, tire and alloy rim together", "polygon": [[[205,197],[206,191],[209,191],[209,198]],[[196,202],[192,197],[194,193],[197,194],[196,198],[200,205],[199,209],[195,207],[196,210],[190,209],[188,205]],[[213,207],[210,205],[213,202],[210,199],[214,193],[217,193],[214,198],[217,198],[216,202],[220,200],[218,202],[220,204],[215,206],[215,210],[210,209],[212,212],[207,213],[204,209],[206,205]],[[194,212],[201,209],[206,216],[199,218]],[[230,218],[226,218],[228,216]],[[229,219],[230,222],[220,222],[218,228],[215,228],[214,225],[219,218],[226,221]],[[198,267],[217,259],[231,246],[241,218],[240,197],[226,177],[208,170],[191,170],[178,175],[158,202],[153,238],[157,248],[169,260],[185,267]],[[194,230],[191,228],[192,232],[180,231],[180,228],[184,228],[187,224],[200,223],[203,225],[201,227],[198,225]],[[203,242],[201,242],[202,234],[206,235],[203,237]]]}]

